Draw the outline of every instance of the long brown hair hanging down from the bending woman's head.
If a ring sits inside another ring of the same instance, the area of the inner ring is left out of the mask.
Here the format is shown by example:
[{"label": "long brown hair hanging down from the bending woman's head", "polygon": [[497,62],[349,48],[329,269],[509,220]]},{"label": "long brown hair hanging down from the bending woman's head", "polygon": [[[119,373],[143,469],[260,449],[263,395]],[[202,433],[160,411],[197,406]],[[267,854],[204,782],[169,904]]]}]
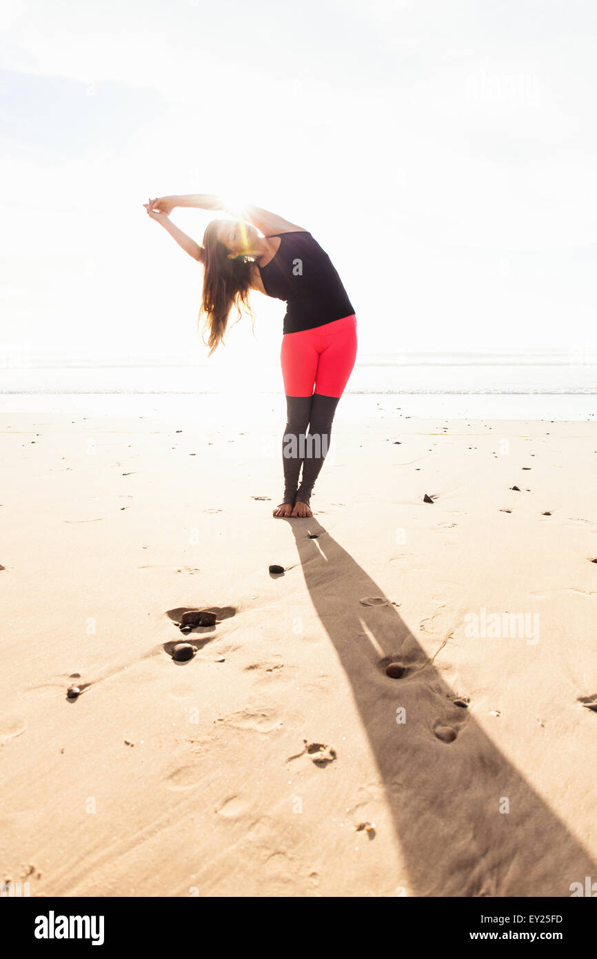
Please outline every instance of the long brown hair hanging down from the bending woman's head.
[{"label": "long brown hair hanging down from the bending woman's head", "polygon": [[234,260],[228,258],[230,250],[218,238],[218,223],[208,223],[203,234],[203,292],[199,320],[203,319],[203,342],[209,346],[209,356],[222,342],[228,318],[236,306],[241,319],[241,307],[253,319],[248,294],[251,289],[251,263],[249,257],[239,254]]}]

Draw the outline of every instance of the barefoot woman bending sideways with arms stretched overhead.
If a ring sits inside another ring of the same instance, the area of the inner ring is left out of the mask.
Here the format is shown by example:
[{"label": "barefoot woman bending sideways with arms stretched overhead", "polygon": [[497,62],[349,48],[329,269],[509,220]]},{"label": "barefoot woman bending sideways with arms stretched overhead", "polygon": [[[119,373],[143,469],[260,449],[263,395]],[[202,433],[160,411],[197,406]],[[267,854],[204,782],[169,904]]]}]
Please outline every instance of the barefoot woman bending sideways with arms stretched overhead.
[{"label": "barefoot woman bending sideways with arms stretched overhead", "polygon": [[[250,312],[249,290],[287,301],[281,351],[287,397],[285,490],[273,515],[312,516],[310,496],[328,452],[333,414],[356,361],[355,311],[330,257],[309,230],[257,206],[242,209],[242,219],[224,200],[211,196],[161,197],[144,206],[203,264],[200,316],[210,356],[223,338],[232,307],[239,316],[241,306]],[[199,246],[169,220],[175,206],[235,213],[235,219],[209,223]]]}]

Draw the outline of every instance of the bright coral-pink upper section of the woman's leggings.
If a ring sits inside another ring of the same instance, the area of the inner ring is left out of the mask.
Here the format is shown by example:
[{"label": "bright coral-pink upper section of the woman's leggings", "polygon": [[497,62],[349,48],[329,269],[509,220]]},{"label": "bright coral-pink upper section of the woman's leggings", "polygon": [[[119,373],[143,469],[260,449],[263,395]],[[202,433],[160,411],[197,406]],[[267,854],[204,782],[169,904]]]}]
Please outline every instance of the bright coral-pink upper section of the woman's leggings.
[{"label": "bright coral-pink upper section of the woman's leggings", "polygon": [[282,338],[282,376],[287,396],[340,397],[356,362],[356,316],[342,316]]}]

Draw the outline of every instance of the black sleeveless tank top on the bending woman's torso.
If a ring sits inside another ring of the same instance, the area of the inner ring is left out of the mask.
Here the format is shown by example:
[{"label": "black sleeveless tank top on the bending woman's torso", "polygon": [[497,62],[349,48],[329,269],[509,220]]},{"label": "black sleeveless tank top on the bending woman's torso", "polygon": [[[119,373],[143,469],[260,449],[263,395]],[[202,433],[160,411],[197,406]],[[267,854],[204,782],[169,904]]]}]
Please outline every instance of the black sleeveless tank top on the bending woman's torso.
[{"label": "black sleeveless tank top on the bending woman's torso", "polygon": [[259,271],[267,295],[287,301],[284,333],[311,330],[355,313],[330,257],[310,233],[292,230],[270,236],[280,237],[280,246]]}]

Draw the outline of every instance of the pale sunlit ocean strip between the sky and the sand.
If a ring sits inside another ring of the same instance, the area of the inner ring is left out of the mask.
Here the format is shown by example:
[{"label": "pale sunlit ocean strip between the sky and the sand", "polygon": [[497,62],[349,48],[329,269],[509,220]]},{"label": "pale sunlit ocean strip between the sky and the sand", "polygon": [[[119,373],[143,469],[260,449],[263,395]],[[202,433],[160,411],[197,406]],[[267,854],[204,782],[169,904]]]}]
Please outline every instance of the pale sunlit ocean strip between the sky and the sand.
[{"label": "pale sunlit ocean strip between the sky and the sand", "polygon": [[[277,363],[175,363],[130,357],[0,357],[0,410],[138,413],[189,409],[193,396],[234,409],[251,397],[284,401]],[[475,419],[592,420],[597,355],[545,351],[359,356],[346,390],[351,409],[381,403],[402,415]],[[359,401],[360,398],[360,401]],[[369,398],[369,399],[367,399]]]}]

